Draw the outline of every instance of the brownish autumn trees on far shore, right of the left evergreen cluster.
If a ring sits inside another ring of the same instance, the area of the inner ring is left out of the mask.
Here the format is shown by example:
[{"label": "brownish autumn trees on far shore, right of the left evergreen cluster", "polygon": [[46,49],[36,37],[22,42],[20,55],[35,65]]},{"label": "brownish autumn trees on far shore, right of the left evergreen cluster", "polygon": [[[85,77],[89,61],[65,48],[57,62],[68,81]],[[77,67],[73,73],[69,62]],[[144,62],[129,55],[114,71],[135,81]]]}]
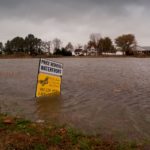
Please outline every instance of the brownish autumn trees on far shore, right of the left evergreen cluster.
[{"label": "brownish autumn trees on far shore, right of the left evergreen cluster", "polygon": [[94,47],[98,54],[122,51],[125,55],[133,55],[136,49],[136,39],[133,34],[118,36],[114,42],[109,37],[102,38],[100,34],[91,34],[88,48]]}]

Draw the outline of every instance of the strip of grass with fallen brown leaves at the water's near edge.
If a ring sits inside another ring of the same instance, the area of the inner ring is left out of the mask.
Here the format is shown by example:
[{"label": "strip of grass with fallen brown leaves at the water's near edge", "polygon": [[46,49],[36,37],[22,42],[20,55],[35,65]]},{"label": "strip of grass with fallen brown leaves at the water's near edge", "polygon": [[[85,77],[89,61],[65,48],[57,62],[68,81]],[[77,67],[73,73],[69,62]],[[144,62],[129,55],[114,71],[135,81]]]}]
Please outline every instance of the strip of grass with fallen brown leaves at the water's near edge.
[{"label": "strip of grass with fallen brown leaves at the water's near edge", "polygon": [[67,126],[33,123],[0,114],[0,150],[149,150],[149,143],[87,136]]}]

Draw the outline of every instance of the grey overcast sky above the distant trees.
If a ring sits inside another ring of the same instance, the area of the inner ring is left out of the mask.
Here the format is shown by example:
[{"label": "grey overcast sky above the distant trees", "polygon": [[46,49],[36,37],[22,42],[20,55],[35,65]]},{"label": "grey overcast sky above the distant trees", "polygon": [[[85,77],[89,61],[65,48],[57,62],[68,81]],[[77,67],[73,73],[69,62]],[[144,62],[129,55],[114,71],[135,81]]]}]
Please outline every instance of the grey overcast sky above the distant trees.
[{"label": "grey overcast sky above the distant trees", "polygon": [[90,33],[112,39],[133,33],[150,45],[149,0],[0,0],[0,41],[28,33],[84,44]]}]

